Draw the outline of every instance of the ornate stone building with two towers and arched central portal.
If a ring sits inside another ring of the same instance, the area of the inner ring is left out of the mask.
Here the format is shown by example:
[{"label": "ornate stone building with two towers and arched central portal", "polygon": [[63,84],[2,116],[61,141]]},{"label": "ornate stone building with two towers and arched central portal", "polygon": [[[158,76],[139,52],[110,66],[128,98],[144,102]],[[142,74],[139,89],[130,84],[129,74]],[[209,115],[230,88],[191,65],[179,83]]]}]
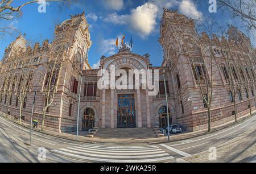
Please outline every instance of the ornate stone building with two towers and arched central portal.
[{"label": "ornate stone building with two towers and arched central portal", "polygon": [[[182,28],[185,33],[197,37],[192,19],[174,11],[164,10],[159,39],[164,49],[162,67],[153,67],[150,64],[149,55],[137,55],[131,52],[126,45],[122,45],[117,54],[110,57],[102,56],[98,69],[91,69],[88,64],[88,52],[92,42],[90,41],[85,15],[71,16],[71,19],[65,20],[56,26],[55,40],[51,44],[46,40],[42,47],[37,43],[34,48],[31,48],[26,45],[26,40],[22,36],[11,43],[0,63],[1,85],[5,83],[6,74],[19,72],[19,68],[14,66],[16,60],[32,61],[32,86],[26,97],[26,105],[22,108],[22,115],[25,121],[30,120],[34,92],[37,90],[34,117],[39,120],[40,125],[46,97],[42,85],[40,85],[43,83],[40,83],[39,79],[44,79],[44,81],[47,79],[47,73],[42,74],[40,72],[43,72],[50,50],[62,51],[63,54],[61,55],[63,55],[65,67],[59,72],[60,80],[55,98],[52,105],[47,109],[46,129],[65,131],[67,128],[76,127],[77,114],[79,114],[80,130],[88,130],[92,127],[113,129],[119,127],[165,127],[167,126],[167,107],[164,80],[166,80],[167,86],[168,110],[171,115],[170,123],[183,125],[189,131],[205,129],[207,128],[207,108],[205,108],[201,98],[195,71],[193,71],[188,57],[179,50],[182,45],[179,45],[180,34],[176,32],[176,28]],[[207,38],[207,35],[203,34],[203,37]],[[245,90],[242,88],[241,95],[237,95],[238,117],[249,113],[249,105],[255,110],[254,73],[256,58],[250,39],[246,38],[237,28],[230,28],[228,41],[224,38],[219,40],[217,37],[213,39],[216,43],[213,50],[216,57],[214,60],[218,61],[215,67],[217,73],[213,76],[212,125],[214,126],[234,119],[234,103],[230,101],[232,98],[230,98],[228,80],[224,72],[225,68],[223,68],[225,62],[222,61],[224,56],[222,54],[226,49],[223,43],[226,42],[232,45],[233,63],[236,63],[238,58],[242,58],[244,63],[243,72],[253,84],[251,89]],[[64,45],[64,49],[60,49],[60,43],[62,43],[61,46]],[[193,56],[198,57],[196,52]],[[203,65],[200,62],[196,64],[198,66],[197,73],[203,72]],[[118,69],[125,71],[129,69],[158,70],[159,94],[149,96],[150,90],[148,88],[134,90],[99,89],[98,81],[101,76],[98,76],[98,72],[100,69],[111,71],[111,65],[115,65],[115,71]],[[246,71],[248,71],[247,74]],[[204,74],[209,76],[208,67],[205,67]],[[80,77],[82,77],[82,81]],[[3,88],[1,90],[3,91]],[[81,95],[80,110],[78,111],[79,93]],[[11,95],[13,102],[9,102],[9,114],[18,116],[19,107],[17,103],[19,101],[16,101],[14,91]],[[6,94],[0,97],[2,98],[0,109],[6,113]]]}]

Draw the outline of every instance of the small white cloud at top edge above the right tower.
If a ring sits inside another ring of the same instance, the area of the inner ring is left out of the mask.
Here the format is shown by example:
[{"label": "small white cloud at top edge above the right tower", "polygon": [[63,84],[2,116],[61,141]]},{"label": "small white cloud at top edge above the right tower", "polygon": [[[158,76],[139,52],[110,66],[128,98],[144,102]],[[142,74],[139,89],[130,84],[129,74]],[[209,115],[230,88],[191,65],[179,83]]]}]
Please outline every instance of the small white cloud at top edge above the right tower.
[{"label": "small white cloud at top edge above the right tower", "polygon": [[193,19],[199,19],[203,17],[203,14],[196,9],[195,4],[193,4],[190,0],[183,0],[180,3],[180,13],[191,17]]}]

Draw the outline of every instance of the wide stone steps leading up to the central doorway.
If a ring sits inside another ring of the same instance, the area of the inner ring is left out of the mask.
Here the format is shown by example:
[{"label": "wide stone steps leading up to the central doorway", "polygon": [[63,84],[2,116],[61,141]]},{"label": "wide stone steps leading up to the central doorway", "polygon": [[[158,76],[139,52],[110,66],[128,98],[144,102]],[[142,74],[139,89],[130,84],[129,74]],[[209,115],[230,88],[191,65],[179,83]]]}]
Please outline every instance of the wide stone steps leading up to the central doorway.
[{"label": "wide stone steps leading up to the central doorway", "polygon": [[94,138],[108,138],[108,139],[143,139],[156,138],[156,132],[149,127],[143,128],[100,128]]}]

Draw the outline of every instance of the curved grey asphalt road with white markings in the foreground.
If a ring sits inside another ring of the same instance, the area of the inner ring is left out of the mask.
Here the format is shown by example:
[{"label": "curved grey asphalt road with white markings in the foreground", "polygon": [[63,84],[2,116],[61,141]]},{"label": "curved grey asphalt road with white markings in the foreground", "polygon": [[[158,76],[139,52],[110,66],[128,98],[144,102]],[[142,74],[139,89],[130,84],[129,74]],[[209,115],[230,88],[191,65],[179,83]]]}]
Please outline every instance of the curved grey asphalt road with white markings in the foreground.
[{"label": "curved grey asphalt road with white markings in the foreground", "polygon": [[[189,158],[197,155],[196,158],[200,159],[202,153],[207,156],[212,147],[220,149],[222,154],[232,155],[219,155],[219,161],[233,162],[240,158],[240,161],[253,162],[256,156],[256,115],[225,129],[178,142],[127,146],[82,143],[34,131],[32,147],[29,129],[0,117],[0,142],[0,162],[196,162]],[[245,145],[231,153],[230,147],[236,146],[232,144],[234,142]],[[230,147],[224,148],[228,145]],[[208,159],[201,161],[208,162]]]}]

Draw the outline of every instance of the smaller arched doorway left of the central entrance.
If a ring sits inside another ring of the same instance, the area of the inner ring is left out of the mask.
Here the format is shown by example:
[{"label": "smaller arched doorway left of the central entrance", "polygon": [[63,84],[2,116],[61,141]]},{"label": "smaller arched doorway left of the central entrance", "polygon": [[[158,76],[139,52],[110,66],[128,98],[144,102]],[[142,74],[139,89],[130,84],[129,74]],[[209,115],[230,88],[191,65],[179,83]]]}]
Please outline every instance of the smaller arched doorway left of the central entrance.
[{"label": "smaller arched doorway left of the central entrance", "polygon": [[87,108],[84,111],[84,118],[82,118],[82,130],[92,129],[95,125],[95,113],[92,108]]}]

